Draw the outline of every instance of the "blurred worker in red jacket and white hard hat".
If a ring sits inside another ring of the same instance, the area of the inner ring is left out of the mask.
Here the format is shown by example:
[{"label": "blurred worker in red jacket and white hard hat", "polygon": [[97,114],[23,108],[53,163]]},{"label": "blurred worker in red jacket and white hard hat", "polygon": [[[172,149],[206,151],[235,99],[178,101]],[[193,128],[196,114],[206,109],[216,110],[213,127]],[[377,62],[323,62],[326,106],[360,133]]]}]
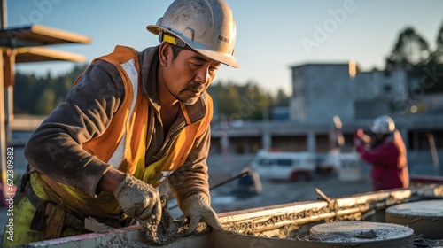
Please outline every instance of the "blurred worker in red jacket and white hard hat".
[{"label": "blurred worker in red jacket and white hard hat", "polygon": [[374,190],[408,188],[409,173],[406,147],[395,122],[379,116],[370,127],[373,136],[359,128],[354,136],[355,149],[372,166]]}]

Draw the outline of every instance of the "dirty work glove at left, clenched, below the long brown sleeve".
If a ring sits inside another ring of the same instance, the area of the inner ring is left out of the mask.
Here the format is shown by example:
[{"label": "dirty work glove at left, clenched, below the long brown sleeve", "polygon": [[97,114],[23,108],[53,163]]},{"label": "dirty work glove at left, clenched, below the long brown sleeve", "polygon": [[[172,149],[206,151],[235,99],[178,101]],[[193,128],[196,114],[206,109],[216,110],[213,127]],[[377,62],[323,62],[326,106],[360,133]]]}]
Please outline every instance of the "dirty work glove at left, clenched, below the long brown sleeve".
[{"label": "dirty work glove at left, clenched, below the long brown sleeve", "polygon": [[161,219],[159,191],[133,175],[126,174],[113,192],[123,212],[143,225],[158,225]]}]

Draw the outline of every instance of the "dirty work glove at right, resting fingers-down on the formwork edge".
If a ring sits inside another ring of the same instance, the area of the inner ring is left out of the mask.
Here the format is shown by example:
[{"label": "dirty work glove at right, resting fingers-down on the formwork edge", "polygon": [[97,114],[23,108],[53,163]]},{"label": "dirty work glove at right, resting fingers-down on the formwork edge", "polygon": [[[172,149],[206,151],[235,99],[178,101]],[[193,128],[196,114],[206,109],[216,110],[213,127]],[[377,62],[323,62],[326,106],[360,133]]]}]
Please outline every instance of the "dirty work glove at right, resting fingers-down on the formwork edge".
[{"label": "dirty work glove at right, resting fingers-down on the formwork edge", "polygon": [[209,205],[207,198],[201,195],[193,195],[183,200],[182,211],[189,218],[189,228],[185,235],[188,236],[196,231],[199,221],[205,221],[213,229],[222,230],[217,219],[217,213]]}]

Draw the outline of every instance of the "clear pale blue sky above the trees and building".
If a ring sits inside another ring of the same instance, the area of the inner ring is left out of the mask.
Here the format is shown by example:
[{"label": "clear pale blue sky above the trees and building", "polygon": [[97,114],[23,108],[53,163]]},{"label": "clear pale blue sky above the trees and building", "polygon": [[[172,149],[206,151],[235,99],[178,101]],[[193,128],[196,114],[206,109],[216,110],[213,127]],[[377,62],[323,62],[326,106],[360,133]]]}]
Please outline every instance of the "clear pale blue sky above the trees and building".
[{"label": "clear pale blue sky above the trees and building", "polygon": [[[215,81],[253,81],[262,89],[291,92],[290,66],[347,62],[363,70],[383,68],[398,35],[414,27],[435,48],[443,25],[439,0],[226,0],[237,21],[235,56],[239,69],[221,66]],[[31,23],[88,35],[90,44],[55,45],[90,61],[116,44],[137,50],[158,44],[146,31],[172,0],[9,0],[8,27]],[[70,62],[32,63],[17,69],[36,74],[65,73]]]}]

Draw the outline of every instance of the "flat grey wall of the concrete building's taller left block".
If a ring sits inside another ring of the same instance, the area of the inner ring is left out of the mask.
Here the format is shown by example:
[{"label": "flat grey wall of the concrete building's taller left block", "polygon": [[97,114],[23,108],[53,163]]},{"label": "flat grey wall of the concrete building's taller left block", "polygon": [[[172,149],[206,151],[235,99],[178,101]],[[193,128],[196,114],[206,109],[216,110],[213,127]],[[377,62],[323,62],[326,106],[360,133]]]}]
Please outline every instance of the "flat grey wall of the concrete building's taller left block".
[{"label": "flat grey wall of the concrete building's taller left block", "polygon": [[334,115],[354,119],[354,85],[347,64],[292,67],[291,120],[329,123]]}]

